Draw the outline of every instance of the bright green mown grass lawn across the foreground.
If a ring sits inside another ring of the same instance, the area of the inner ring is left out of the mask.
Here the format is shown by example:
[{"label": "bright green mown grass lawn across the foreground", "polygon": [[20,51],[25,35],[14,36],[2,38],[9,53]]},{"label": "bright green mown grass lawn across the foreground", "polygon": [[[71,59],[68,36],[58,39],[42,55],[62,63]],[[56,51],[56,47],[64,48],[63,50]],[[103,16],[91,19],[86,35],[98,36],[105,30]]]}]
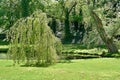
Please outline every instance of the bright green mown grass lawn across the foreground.
[{"label": "bright green mown grass lawn across the foreground", "polygon": [[49,67],[12,66],[0,60],[0,80],[120,80],[120,59],[72,60]]}]

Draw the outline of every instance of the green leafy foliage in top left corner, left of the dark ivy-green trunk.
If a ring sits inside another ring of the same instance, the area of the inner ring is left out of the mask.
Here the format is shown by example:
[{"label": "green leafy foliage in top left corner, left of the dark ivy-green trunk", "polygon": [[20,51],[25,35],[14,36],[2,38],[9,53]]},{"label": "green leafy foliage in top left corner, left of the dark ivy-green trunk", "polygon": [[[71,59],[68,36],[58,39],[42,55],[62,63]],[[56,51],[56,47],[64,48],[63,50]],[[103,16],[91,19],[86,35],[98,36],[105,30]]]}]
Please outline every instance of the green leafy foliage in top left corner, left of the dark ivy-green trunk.
[{"label": "green leafy foliage in top left corner, left of the dark ivy-green trunk", "polygon": [[1,0],[0,27],[9,29],[20,18],[19,0]]}]

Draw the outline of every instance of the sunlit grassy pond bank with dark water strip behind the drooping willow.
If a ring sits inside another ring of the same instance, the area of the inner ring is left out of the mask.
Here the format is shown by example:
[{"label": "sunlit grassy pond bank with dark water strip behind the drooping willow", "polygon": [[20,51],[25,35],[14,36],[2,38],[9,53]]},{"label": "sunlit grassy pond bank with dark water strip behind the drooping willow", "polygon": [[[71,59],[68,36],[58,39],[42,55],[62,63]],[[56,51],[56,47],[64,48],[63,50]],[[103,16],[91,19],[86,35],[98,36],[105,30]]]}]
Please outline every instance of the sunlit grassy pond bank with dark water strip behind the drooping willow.
[{"label": "sunlit grassy pond bank with dark water strip behind the drooping willow", "polygon": [[[0,46],[0,59],[5,59],[9,45]],[[88,59],[101,57],[120,57],[118,53],[109,55],[105,46],[87,48],[79,44],[64,44],[62,49],[62,59]]]}]

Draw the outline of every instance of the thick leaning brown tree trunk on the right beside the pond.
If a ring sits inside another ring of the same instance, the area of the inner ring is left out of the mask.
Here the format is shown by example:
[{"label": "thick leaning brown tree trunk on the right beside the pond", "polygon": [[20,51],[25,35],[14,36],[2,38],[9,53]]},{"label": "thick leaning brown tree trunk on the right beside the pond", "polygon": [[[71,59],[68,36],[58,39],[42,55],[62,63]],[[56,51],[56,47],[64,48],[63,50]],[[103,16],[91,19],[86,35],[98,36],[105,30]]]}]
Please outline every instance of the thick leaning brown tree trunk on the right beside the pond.
[{"label": "thick leaning brown tree trunk on the right beside the pond", "polygon": [[97,31],[100,34],[100,37],[102,38],[106,47],[108,48],[108,52],[109,53],[118,53],[118,48],[114,44],[113,39],[109,38],[108,35],[106,34],[106,32],[103,28],[101,19],[97,16],[97,14],[94,11],[91,12],[91,15],[92,15],[94,21],[96,21]]}]

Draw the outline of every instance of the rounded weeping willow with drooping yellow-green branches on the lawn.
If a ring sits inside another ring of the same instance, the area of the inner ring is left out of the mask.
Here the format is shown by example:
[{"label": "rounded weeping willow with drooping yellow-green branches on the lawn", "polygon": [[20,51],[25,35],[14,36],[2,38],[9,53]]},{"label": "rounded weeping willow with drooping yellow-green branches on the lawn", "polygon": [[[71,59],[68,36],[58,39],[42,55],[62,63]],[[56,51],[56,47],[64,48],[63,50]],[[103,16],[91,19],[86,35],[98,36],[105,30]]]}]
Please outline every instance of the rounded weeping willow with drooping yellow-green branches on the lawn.
[{"label": "rounded weeping willow with drooping yellow-green branches on the lawn", "polygon": [[61,49],[61,42],[47,25],[45,13],[37,11],[30,17],[17,21],[8,32],[8,54],[14,63],[52,64]]}]

